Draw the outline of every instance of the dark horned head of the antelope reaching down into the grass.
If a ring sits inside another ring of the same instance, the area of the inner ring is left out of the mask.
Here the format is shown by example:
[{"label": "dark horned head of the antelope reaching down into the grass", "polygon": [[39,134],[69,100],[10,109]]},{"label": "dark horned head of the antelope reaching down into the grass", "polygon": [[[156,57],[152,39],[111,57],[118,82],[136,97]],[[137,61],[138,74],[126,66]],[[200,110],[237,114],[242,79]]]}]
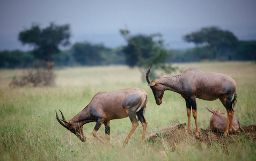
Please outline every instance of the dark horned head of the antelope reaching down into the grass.
[{"label": "dark horned head of the antelope reaching down into the grass", "polygon": [[60,120],[60,118],[58,118],[58,114],[56,112],[56,119],[57,119],[57,121],[64,128],[68,129],[71,133],[75,134],[79,138],[79,140],[81,140],[82,142],[85,142],[86,141],[86,137],[84,136],[83,125],[79,124],[79,122],[72,122],[71,120],[66,120],[64,118],[64,115],[63,115],[62,112],[61,112],[61,116],[62,116],[62,120]]}]

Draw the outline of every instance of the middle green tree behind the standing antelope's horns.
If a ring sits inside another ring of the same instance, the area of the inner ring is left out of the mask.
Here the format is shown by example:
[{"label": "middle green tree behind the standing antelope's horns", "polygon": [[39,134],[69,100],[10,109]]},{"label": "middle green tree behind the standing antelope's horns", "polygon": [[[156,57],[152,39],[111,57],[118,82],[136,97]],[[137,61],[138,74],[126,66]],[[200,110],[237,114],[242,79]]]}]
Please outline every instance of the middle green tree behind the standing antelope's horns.
[{"label": "middle green tree behind the standing antelope's horns", "polygon": [[[125,54],[126,64],[129,67],[138,67],[143,78],[144,69],[147,69],[149,65],[153,66],[153,69],[159,69],[169,74],[177,70],[171,64],[165,63],[168,51],[164,47],[161,34],[130,35],[128,30],[120,30],[120,33],[128,43],[122,50]],[[153,70],[151,73],[154,75]]]}]

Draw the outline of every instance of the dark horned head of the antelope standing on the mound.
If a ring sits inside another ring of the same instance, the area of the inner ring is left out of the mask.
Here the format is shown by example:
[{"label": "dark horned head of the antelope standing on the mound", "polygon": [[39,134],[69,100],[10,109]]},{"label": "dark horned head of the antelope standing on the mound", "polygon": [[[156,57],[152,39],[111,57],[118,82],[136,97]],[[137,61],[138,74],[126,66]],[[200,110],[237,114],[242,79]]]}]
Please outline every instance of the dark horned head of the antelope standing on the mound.
[{"label": "dark horned head of the antelope standing on the mound", "polygon": [[165,89],[164,89],[163,85],[161,85],[160,83],[157,82],[157,79],[154,79],[151,82],[151,80],[149,78],[149,74],[150,74],[150,67],[149,67],[148,72],[146,74],[146,79],[147,79],[147,82],[149,83],[148,85],[150,86],[150,88],[153,92],[153,95],[154,95],[155,100],[156,100],[156,104],[161,105]]}]

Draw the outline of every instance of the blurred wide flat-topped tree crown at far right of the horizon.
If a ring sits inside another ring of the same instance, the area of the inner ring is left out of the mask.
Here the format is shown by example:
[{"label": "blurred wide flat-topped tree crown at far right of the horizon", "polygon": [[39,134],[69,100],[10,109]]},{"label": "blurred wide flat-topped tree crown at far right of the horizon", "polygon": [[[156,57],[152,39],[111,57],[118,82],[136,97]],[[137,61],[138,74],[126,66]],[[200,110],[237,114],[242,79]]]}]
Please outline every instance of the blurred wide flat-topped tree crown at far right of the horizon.
[{"label": "blurred wide flat-topped tree crown at far right of the horizon", "polygon": [[204,46],[213,58],[224,53],[232,53],[237,47],[238,40],[230,31],[221,30],[219,27],[203,27],[201,30],[186,34],[184,40],[195,45]]}]

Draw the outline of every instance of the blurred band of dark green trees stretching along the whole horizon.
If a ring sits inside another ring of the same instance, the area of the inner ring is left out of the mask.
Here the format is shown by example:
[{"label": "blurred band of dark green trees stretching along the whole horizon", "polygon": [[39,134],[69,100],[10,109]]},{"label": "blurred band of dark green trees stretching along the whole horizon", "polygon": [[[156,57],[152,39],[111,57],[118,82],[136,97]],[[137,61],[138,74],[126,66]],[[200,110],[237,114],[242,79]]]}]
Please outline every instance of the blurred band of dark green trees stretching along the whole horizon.
[{"label": "blurred band of dark green trees stretching along the whole horizon", "polygon": [[60,46],[69,44],[69,25],[52,23],[40,28],[32,24],[30,29],[19,33],[19,40],[34,49],[28,52],[0,51],[0,68],[27,68],[33,67],[38,60],[50,60],[56,66],[127,64],[138,67],[142,73],[151,65],[152,69],[166,73],[175,70],[169,65],[171,62],[256,60],[255,40],[237,40],[233,33],[218,27],[204,27],[185,35],[184,40],[196,46],[177,50],[167,50],[161,34],[131,35],[128,30],[120,30],[120,33],[127,41],[126,46],[108,48],[103,44],[76,42],[70,48],[61,50]]}]

